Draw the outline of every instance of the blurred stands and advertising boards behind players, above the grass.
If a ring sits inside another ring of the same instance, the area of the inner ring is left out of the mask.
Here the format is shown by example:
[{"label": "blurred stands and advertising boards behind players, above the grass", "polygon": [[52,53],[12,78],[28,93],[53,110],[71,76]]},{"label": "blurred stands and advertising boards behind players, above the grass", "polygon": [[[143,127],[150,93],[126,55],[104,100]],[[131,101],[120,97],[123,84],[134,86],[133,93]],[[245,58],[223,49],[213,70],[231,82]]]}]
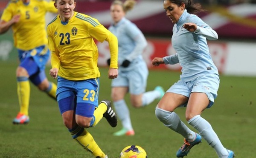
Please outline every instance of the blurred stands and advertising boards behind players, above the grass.
[{"label": "blurred stands and advertising boards behind players, above the grass", "polygon": [[[111,25],[112,0],[76,0],[76,11],[99,20],[106,28]],[[217,33],[219,39],[208,41],[210,52],[220,73],[235,76],[256,76],[256,0],[195,0],[207,11],[198,14]],[[8,0],[0,0],[0,14]],[[56,15],[47,15],[51,21]],[[171,37],[173,24],[163,9],[163,0],[137,0],[126,17],[145,34],[148,47],[143,54],[150,66],[155,56],[175,54]],[[12,32],[0,36],[0,61],[17,61]],[[106,66],[109,58],[106,43],[97,42],[99,66]],[[161,69],[180,71],[179,65],[162,65]]]}]

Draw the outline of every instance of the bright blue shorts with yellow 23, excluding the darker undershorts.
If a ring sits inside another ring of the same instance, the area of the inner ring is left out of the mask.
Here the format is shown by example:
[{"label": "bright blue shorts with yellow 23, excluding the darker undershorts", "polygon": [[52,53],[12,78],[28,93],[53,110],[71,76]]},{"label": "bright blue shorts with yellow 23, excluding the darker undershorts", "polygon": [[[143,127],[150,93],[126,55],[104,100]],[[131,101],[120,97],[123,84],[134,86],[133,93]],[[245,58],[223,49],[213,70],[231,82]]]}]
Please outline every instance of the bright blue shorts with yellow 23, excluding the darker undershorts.
[{"label": "bright blue shorts with yellow 23, excluding the darker undershorts", "polygon": [[99,78],[70,81],[58,76],[57,101],[76,96],[76,104],[92,104],[98,107]]}]

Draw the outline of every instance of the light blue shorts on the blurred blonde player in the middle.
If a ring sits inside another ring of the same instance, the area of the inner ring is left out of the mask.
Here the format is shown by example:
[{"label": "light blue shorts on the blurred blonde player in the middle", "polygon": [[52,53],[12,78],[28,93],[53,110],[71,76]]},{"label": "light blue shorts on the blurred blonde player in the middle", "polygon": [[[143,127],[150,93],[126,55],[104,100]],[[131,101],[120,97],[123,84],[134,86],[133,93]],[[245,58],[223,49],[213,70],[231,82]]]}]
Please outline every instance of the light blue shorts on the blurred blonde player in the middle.
[{"label": "light blue shorts on the blurred blonde player in the middle", "polygon": [[131,71],[120,71],[112,80],[112,87],[128,87],[129,93],[139,95],[145,92],[148,79],[147,65],[140,65]]}]

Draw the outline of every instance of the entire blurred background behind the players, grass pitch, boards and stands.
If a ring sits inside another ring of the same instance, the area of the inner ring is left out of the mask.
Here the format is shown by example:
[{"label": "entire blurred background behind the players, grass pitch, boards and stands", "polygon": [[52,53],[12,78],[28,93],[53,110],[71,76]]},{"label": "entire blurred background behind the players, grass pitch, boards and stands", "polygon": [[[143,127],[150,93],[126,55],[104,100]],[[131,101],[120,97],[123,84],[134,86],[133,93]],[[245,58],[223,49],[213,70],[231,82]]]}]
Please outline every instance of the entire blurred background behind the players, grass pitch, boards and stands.
[{"label": "entire blurred background behind the players, grass pitch, boards and stands", "polygon": [[[218,33],[218,40],[208,40],[212,59],[220,72],[220,88],[215,104],[202,114],[215,129],[224,146],[238,158],[256,158],[256,0],[196,0],[207,11],[198,14]],[[76,0],[76,11],[99,20],[106,28],[111,25],[111,0]],[[8,0],[0,0],[0,15]],[[56,15],[47,14],[47,22]],[[177,82],[180,65],[152,68],[151,59],[175,54],[172,47],[173,24],[163,9],[163,0],[137,0],[126,17],[145,34],[148,41],[143,57],[148,64],[147,90],[161,85],[167,90]],[[41,37],[38,37],[41,38]],[[107,78],[108,44],[97,42],[98,64],[101,71],[99,100],[110,99],[111,80]],[[13,47],[12,31],[0,35],[0,157],[1,158],[91,158],[63,126],[58,105],[31,84],[29,116],[26,126],[12,125],[19,109],[15,70],[17,50]],[[50,66],[46,68],[49,72]],[[56,83],[56,79],[48,79]],[[135,109],[129,96],[126,101],[131,113],[134,137],[116,137],[111,133],[121,129],[109,128],[105,119],[88,129],[110,158],[118,158],[129,144],[142,146],[149,158],[173,158],[183,138],[163,126],[155,117],[158,101]],[[185,109],[175,112],[186,123]],[[191,126],[189,126],[191,127]],[[104,131],[104,132],[102,132]],[[168,145],[167,145],[168,144]],[[215,151],[203,141],[189,153],[189,158],[216,158]]]}]

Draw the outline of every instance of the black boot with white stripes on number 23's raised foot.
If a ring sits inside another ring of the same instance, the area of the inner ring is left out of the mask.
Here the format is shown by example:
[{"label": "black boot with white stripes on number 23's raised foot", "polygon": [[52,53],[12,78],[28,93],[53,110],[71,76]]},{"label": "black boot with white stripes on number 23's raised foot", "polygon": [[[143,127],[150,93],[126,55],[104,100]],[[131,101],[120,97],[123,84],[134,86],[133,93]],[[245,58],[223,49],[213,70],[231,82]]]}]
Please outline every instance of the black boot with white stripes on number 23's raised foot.
[{"label": "black boot with white stripes on number 23's raised foot", "polygon": [[108,121],[108,123],[111,125],[111,127],[116,127],[117,125],[117,116],[114,110],[112,109],[111,102],[109,100],[102,100],[100,103],[104,103],[107,106],[107,111],[103,114],[103,117],[105,117]]}]

